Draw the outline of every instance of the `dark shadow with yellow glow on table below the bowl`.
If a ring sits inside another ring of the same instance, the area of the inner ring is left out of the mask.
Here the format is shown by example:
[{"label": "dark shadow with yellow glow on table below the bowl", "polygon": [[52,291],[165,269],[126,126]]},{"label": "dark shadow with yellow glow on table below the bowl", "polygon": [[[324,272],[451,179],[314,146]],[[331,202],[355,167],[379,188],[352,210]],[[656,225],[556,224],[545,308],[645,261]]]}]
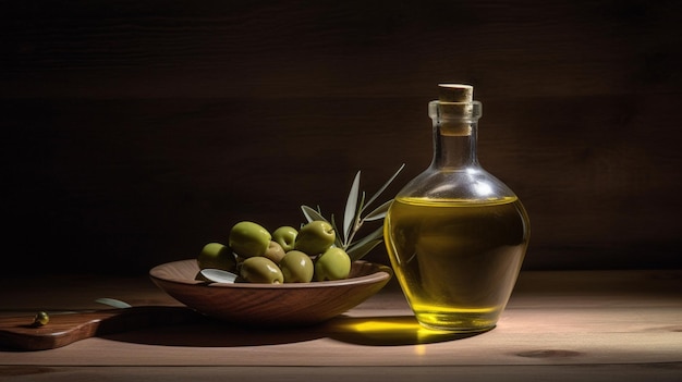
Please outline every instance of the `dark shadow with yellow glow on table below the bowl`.
[{"label": "dark shadow with yellow glow on table below the bowl", "polygon": [[482,333],[429,330],[421,326],[413,316],[339,316],[325,323],[305,328],[252,328],[207,319],[198,323],[148,328],[101,337],[137,344],[190,347],[265,346],[318,338],[366,346],[400,346],[455,341],[478,334]]}]

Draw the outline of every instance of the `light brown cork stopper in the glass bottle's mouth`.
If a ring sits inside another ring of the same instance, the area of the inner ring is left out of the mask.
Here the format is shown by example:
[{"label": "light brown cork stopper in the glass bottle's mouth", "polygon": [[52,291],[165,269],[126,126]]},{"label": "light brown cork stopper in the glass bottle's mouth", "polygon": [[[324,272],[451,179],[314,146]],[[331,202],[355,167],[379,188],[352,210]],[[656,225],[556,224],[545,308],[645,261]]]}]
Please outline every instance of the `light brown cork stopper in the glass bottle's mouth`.
[{"label": "light brown cork stopper in the glass bottle's mouth", "polygon": [[462,84],[438,85],[438,115],[440,134],[448,136],[467,136],[472,134],[474,87]]}]

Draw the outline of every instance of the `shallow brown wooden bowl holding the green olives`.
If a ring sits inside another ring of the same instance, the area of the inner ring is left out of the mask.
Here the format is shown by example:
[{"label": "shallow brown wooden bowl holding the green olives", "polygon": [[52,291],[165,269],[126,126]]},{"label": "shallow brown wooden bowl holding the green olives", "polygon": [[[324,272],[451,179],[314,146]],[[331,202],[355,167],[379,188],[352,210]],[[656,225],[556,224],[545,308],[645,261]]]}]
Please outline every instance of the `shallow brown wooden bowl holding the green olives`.
[{"label": "shallow brown wooden bowl holding the green olives", "polygon": [[195,259],[168,262],[149,271],[171,297],[208,317],[248,325],[310,325],[331,319],[379,292],[391,268],[355,261],[349,279],[292,284],[212,283],[194,280]]}]

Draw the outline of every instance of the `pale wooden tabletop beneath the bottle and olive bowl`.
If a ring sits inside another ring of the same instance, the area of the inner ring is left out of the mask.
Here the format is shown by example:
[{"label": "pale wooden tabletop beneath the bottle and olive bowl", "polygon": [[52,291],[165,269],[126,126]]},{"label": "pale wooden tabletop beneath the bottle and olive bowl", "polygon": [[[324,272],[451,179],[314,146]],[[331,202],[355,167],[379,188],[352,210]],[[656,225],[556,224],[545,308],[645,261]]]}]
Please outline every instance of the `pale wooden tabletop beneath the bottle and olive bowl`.
[{"label": "pale wooden tabletop beneath the bottle and olive bowl", "polygon": [[[149,279],[0,281],[0,315],[179,305]],[[415,323],[391,281],[305,330],[181,324],[64,347],[0,349],[0,381],[682,381],[682,270],[522,272],[498,326],[468,337]]]}]

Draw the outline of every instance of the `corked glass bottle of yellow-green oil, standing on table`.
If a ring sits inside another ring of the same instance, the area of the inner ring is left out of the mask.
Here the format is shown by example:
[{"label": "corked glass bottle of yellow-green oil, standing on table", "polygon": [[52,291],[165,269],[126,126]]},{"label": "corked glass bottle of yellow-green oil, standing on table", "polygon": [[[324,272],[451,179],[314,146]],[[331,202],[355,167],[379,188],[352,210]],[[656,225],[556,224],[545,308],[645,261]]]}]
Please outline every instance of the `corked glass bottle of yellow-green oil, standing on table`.
[{"label": "corked glass bottle of yellow-green oil, standing on table", "polygon": [[468,85],[439,85],[429,102],[434,157],[395,196],[385,219],[391,266],[427,328],[495,328],[521,270],[528,215],[476,157],[482,104]]}]

